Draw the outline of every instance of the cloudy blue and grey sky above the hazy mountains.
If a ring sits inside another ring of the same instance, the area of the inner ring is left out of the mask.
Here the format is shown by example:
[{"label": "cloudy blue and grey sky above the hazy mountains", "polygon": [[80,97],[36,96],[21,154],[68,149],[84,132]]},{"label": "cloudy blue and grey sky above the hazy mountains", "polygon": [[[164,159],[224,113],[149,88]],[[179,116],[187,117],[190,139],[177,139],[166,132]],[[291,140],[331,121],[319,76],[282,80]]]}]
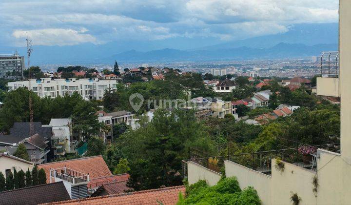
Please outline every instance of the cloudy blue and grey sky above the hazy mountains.
[{"label": "cloudy blue and grey sky above the hazy mountains", "polygon": [[338,21],[338,0],[0,0],[0,44],[212,38],[286,32],[295,23]]}]

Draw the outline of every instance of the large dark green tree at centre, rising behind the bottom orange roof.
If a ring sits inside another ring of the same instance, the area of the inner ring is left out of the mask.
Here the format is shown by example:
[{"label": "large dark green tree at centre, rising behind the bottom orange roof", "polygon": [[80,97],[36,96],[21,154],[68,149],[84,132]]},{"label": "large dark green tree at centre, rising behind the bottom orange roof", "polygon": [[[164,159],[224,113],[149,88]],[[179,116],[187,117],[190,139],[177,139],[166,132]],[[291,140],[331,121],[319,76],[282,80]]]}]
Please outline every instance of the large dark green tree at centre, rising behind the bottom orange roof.
[{"label": "large dark green tree at centre, rising behind the bottom orange roof", "polygon": [[129,185],[140,190],[181,184],[176,173],[181,171],[181,159],[189,157],[190,147],[215,151],[205,130],[194,111],[156,110],[151,123],[118,139],[117,144],[131,160]]}]

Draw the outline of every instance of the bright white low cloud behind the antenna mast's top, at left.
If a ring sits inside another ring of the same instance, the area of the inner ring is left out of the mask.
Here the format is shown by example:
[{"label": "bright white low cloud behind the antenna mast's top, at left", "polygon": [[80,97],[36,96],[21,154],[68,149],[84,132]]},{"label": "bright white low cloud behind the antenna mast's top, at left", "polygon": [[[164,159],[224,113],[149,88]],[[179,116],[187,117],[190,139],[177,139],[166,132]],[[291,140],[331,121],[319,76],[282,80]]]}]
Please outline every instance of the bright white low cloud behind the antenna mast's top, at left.
[{"label": "bright white low cloud behind the antenna mast's top, at left", "polygon": [[15,30],[13,36],[16,39],[28,37],[33,40],[34,45],[76,45],[91,42],[97,44],[97,39],[89,34],[84,34],[88,30],[49,28],[38,30]]}]

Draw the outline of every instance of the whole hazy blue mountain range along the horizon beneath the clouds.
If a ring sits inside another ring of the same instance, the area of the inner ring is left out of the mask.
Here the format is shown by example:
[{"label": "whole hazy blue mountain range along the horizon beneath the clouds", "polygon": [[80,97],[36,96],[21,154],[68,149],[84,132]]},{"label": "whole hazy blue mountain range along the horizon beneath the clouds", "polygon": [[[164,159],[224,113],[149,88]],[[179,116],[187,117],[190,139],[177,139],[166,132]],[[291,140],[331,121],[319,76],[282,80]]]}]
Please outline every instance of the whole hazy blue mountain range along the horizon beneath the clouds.
[{"label": "whole hazy blue mountain range along the horizon beneath the clouds", "polygon": [[[113,41],[70,46],[33,46],[32,64],[225,61],[318,56],[338,48],[337,23],[295,24],[289,31],[239,41],[214,38],[170,38],[156,41]],[[35,42],[34,42],[35,44]],[[25,47],[0,45],[0,53]]]}]

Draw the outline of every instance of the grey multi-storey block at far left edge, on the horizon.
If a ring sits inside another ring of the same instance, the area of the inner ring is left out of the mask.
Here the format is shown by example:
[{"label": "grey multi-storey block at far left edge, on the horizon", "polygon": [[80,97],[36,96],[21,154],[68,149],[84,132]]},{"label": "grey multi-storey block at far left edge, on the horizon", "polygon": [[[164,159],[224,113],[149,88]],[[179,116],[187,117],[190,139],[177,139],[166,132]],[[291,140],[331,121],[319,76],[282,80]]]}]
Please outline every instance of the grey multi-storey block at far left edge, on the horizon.
[{"label": "grey multi-storey block at far left edge, on the horizon", "polygon": [[18,53],[0,55],[0,78],[23,79],[24,57]]}]

